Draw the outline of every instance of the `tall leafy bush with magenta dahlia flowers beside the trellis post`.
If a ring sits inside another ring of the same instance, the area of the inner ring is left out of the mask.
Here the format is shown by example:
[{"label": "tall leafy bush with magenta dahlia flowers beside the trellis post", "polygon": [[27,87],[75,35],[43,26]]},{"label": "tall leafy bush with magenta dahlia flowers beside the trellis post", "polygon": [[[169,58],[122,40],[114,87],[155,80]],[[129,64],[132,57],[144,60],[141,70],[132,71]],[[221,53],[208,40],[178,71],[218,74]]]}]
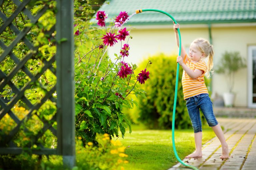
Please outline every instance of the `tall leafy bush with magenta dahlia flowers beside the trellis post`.
[{"label": "tall leafy bush with magenta dahlia flowers beside the trellis post", "polygon": [[[110,138],[119,137],[119,129],[122,137],[127,128],[131,133],[130,120],[122,110],[137,104],[127,98],[129,94],[144,96],[137,82],[144,84],[149,78],[146,68],[135,75],[137,66],[125,62],[131,48],[130,37],[127,28],[121,27],[129,19],[128,13],[120,12],[109,29],[107,16],[105,11],[97,12],[94,21],[99,28],[95,29],[89,22],[84,24],[82,17],[75,18],[76,134],[83,138],[84,144],[89,141],[96,144],[96,133],[108,133]],[[122,47],[112,61],[106,51],[118,41]]]}]

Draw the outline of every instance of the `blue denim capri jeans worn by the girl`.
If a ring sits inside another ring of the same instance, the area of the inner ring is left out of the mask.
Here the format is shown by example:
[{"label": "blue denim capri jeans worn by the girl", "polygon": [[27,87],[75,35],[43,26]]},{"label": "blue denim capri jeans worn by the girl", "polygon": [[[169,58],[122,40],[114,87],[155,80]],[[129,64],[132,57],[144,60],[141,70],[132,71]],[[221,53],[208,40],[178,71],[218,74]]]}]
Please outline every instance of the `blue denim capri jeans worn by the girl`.
[{"label": "blue denim capri jeans worn by the girl", "polygon": [[218,122],[213,114],[212,102],[208,94],[199,94],[186,99],[188,114],[192,123],[194,132],[202,131],[202,122],[199,108],[204,114],[204,117],[210,127],[218,125]]}]

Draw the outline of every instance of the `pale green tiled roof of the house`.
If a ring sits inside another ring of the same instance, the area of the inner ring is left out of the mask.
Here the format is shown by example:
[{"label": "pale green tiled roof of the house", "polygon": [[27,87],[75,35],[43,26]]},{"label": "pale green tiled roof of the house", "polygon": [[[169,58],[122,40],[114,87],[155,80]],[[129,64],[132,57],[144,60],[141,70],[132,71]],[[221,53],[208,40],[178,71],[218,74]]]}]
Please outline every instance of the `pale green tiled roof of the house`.
[{"label": "pale green tiled roof of the house", "polygon": [[[131,15],[137,9],[158,9],[172,15],[178,23],[239,23],[256,22],[255,0],[110,0],[99,10],[113,21],[121,11]],[[159,12],[146,11],[132,16],[130,25],[163,25],[172,22]]]}]

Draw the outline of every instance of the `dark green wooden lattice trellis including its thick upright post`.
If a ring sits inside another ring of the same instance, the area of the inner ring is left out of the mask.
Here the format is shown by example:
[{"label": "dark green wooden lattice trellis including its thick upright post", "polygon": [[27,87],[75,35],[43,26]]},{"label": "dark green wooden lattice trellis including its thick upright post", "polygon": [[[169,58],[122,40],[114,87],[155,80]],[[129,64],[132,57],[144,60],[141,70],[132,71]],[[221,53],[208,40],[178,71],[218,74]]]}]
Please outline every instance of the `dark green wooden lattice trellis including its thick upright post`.
[{"label": "dark green wooden lattice trellis including its thick upright post", "polygon": [[[0,96],[0,121],[5,121],[8,115],[15,125],[8,133],[3,132],[0,125],[0,154],[20,154],[26,148],[26,151],[35,154],[61,154],[64,163],[72,166],[75,158],[73,2],[57,0],[54,2],[56,7],[51,4],[53,1],[45,1],[39,5],[35,2],[0,0],[0,35],[6,32],[15,35],[12,41],[7,42],[2,37],[0,40],[0,95],[7,89],[10,92],[8,99],[4,95]],[[7,14],[6,6],[10,3],[13,6],[13,13]],[[35,8],[39,9],[36,14]],[[56,15],[52,12],[56,24],[44,30],[38,21],[47,11],[57,11]],[[23,26],[17,24],[18,16],[23,19]],[[32,29],[38,29],[50,43],[35,43],[37,36],[28,36]],[[44,45],[55,45],[57,50],[46,55],[47,52],[40,51]],[[17,54],[15,50],[20,47],[24,48],[23,55]],[[28,68],[34,59],[40,60],[37,71],[33,71],[33,67]],[[7,61],[12,63],[13,68],[6,68]],[[56,77],[57,83],[45,87],[41,79],[46,72]],[[16,81],[15,77],[18,75],[23,75],[20,78],[23,83]],[[40,89],[43,95],[39,97],[40,100],[32,103],[27,91],[34,89]],[[22,118],[14,111],[21,103],[27,110]],[[56,110],[50,117],[40,113],[41,107],[46,103],[56,105]],[[41,125],[36,132],[33,131],[33,127],[26,126],[26,122],[32,117]],[[47,147],[42,142],[46,131],[56,136],[57,147]],[[24,146],[18,146],[16,141],[17,136],[21,134],[25,134],[29,140]],[[29,137],[26,134],[29,134]]]}]

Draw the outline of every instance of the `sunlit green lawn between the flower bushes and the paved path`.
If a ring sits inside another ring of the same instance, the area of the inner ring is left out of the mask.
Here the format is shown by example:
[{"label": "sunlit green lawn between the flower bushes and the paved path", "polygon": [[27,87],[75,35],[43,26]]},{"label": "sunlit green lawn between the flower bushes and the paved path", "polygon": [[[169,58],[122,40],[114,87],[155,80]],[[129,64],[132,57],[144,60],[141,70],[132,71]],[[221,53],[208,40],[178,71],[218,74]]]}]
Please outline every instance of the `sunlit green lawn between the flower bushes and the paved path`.
[{"label": "sunlit green lawn between the flower bushes and the paved path", "polygon": [[[167,170],[177,164],[172,148],[171,130],[147,130],[142,126],[133,126],[133,132],[120,139],[126,146],[128,164],[126,170]],[[203,127],[203,141],[206,143],[215,137],[210,127]],[[181,159],[195,149],[194,132],[192,129],[175,130],[175,146]]]}]

